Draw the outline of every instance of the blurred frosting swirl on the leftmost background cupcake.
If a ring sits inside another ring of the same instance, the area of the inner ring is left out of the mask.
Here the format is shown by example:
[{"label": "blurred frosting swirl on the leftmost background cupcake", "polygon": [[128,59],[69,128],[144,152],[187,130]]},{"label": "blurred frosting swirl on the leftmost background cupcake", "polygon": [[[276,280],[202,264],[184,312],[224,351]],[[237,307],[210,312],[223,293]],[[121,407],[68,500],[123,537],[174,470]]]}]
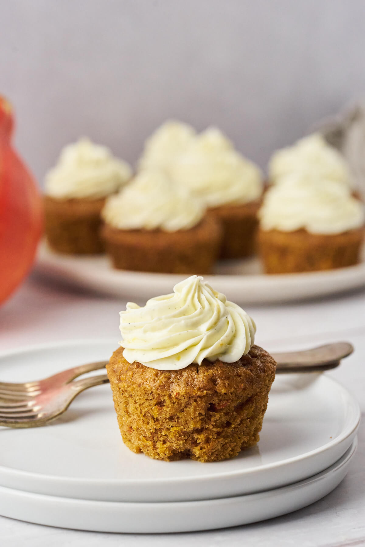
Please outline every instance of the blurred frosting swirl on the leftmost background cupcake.
[{"label": "blurred frosting swirl on the leftmost background cupcake", "polygon": [[45,177],[45,193],[56,199],[98,199],[119,190],[131,177],[130,166],[87,138],[63,148]]}]

